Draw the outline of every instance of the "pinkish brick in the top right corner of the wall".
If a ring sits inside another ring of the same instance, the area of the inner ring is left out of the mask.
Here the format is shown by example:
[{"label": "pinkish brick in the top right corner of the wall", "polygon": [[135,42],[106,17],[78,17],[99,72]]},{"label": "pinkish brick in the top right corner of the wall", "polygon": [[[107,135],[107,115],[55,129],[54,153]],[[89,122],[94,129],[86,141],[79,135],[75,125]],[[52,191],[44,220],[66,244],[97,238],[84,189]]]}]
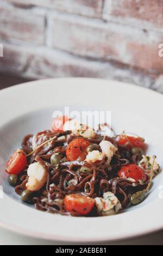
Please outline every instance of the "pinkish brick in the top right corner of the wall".
[{"label": "pinkish brick in the top right corner of the wall", "polygon": [[[136,19],[147,21],[155,26],[163,25],[163,2],[162,0],[106,0],[111,2],[108,5],[108,15],[122,17],[123,19]],[[107,10],[105,10],[107,12]],[[108,16],[109,17],[109,16]],[[123,21],[123,20],[122,20]],[[129,20],[128,20],[129,21]],[[143,25],[143,23],[142,23]]]}]

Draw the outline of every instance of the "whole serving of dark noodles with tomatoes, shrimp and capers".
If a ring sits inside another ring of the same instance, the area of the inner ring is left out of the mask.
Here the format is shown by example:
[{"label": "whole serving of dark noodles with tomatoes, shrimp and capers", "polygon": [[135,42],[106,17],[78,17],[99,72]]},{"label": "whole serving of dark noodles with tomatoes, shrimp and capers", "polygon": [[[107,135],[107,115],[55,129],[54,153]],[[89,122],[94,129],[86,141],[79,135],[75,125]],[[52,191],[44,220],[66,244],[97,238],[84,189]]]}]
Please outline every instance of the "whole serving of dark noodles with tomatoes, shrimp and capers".
[{"label": "whole serving of dark noodles with tomatoes, shrimp and capers", "polygon": [[156,156],[145,155],[143,138],[113,130],[109,137],[105,126],[95,132],[59,117],[53,131],[25,136],[6,164],[9,184],[23,202],[61,215],[108,216],[141,203],[160,171]]}]

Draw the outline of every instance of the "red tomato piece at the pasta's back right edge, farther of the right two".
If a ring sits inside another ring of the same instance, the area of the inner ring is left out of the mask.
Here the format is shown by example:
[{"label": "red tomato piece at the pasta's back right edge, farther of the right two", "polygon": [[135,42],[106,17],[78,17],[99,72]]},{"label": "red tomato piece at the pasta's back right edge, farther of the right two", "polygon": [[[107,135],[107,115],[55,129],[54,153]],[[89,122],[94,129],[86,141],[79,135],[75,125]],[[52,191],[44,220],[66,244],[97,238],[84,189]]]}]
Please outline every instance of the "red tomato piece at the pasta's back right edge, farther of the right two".
[{"label": "red tomato piece at the pasta's back right edge, farther of the right two", "polygon": [[126,143],[128,143],[127,147],[131,148],[131,144],[129,142],[131,142],[133,147],[137,147],[137,148],[141,148],[141,149],[146,148],[146,143],[144,142],[144,139],[140,138],[140,137],[132,137],[132,136],[127,136],[127,135],[126,136],[121,135],[118,139],[118,144],[125,145]]}]

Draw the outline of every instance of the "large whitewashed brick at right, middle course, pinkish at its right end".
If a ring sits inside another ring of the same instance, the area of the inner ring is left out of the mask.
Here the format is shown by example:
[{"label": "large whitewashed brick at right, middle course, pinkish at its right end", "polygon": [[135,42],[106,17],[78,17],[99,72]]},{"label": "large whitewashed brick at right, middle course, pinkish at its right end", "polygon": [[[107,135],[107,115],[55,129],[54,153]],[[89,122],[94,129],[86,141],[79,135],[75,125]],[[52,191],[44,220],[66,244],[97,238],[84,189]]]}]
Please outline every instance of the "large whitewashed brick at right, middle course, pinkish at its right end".
[{"label": "large whitewashed brick at right, middle course, pinkish at its right end", "polygon": [[55,15],[49,20],[48,45],[83,57],[112,60],[160,74],[158,45],[163,34],[120,24]]}]

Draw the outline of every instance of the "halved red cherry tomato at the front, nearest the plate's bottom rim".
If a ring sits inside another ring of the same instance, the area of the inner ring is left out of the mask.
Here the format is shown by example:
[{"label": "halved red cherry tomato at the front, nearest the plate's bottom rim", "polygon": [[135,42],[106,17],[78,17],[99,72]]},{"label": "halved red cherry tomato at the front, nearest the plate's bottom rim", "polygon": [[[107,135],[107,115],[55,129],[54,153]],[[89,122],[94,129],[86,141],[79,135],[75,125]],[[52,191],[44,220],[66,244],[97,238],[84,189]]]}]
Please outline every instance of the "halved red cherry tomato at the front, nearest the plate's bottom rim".
[{"label": "halved red cherry tomato at the front, nearest the plate's bottom rim", "polygon": [[95,205],[95,199],[79,194],[70,194],[65,197],[65,208],[67,211],[79,215],[87,215]]}]

